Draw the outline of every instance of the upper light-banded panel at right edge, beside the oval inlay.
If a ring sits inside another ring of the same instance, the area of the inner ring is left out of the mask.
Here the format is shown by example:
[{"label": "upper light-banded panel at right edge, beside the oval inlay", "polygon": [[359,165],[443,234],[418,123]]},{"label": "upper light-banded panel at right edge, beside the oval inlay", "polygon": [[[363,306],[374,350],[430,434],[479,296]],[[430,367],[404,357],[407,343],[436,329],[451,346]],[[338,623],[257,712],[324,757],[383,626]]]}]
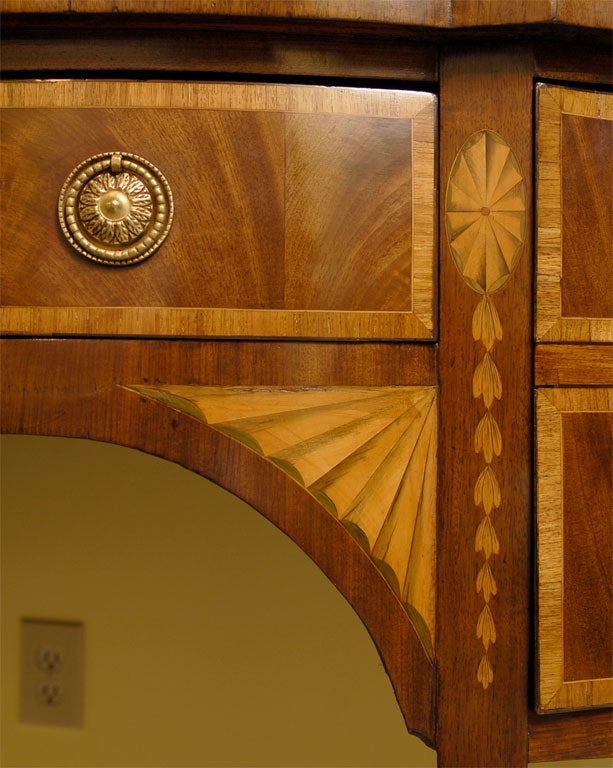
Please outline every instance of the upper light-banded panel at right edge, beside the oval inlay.
[{"label": "upper light-banded panel at right edge, beside the oval inlay", "polygon": [[537,88],[539,341],[613,341],[613,95]]}]

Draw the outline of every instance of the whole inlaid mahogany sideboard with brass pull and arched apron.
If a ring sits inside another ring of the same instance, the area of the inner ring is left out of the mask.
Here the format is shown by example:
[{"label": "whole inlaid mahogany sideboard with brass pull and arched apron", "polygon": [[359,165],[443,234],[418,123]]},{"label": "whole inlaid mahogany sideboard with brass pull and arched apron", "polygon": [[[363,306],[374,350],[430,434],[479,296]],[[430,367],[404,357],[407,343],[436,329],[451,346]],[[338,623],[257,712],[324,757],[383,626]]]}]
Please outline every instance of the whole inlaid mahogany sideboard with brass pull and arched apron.
[{"label": "whole inlaid mahogany sideboard with brass pull and arched apron", "polygon": [[2,430],[249,502],[441,766],[610,754],[613,4],[2,6]]}]

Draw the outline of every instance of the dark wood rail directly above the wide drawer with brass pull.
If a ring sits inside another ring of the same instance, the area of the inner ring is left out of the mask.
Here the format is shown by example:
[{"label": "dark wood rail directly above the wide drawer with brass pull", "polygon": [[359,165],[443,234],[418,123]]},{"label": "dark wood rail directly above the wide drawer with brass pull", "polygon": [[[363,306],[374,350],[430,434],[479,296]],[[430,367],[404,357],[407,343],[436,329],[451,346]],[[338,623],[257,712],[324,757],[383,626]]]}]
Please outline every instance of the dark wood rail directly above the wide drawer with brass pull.
[{"label": "dark wood rail directly above the wide drawer with brass pull", "polygon": [[434,82],[436,49],[411,43],[404,36],[382,39],[364,36],[362,29],[319,30],[300,34],[300,28],[228,31],[223,24],[210,29],[183,25],[172,35],[163,31],[122,25],[121,35],[106,25],[81,29],[4,30],[2,67],[9,72],[78,70],[199,72],[216,76],[244,75],[313,78],[372,78]]}]

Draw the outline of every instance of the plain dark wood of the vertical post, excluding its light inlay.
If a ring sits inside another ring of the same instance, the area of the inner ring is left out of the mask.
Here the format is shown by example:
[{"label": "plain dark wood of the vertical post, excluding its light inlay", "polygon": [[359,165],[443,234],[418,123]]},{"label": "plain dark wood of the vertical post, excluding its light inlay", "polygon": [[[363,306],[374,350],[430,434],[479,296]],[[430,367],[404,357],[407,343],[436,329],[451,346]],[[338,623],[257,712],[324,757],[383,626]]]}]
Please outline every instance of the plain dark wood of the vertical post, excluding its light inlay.
[{"label": "plain dark wood of the vertical post, excluding its light inlay", "polygon": [[[443,208],[456,153],[473,132],[488,129],[500,134],[516,154],[530,211],[531,112],[532,60],[527,51],[484,47],[443,55]],[[526,242],[516,271],[493,296],[503,328],[494,350],[502,399],[492,406],[502,435],[502,453],[495,461],[502,504],[493,513],[500,542],[500,553],[492,561],[498,584],[492,600],[497,639],[490,650],[494,680],[486,690],[477,680],[483,649],[476,626],[483,606],[475,588],[480,567],[475,534],[483,512],[475,506],[473,493],[483,468],[474,448],[483,404],[472,393],[473,372],[482,356],[471,333],[480,296],[456,269],[444,227],[440,270],[439,765],[525,765],[532,504],[530,245]]]}]

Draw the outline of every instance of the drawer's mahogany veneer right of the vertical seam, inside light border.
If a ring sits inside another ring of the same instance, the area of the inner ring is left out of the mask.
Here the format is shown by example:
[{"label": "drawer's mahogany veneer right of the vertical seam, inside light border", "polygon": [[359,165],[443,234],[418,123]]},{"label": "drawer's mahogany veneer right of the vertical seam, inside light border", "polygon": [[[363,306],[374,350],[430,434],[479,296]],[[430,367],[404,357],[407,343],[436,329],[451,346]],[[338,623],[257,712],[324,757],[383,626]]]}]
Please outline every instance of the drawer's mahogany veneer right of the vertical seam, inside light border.
[{"label": "drawer's mahogany veneer right of the vertical seam, inside light border", "polygon": [[287,116],[288,307],[412,309],[410,143],[410,120]]}]

